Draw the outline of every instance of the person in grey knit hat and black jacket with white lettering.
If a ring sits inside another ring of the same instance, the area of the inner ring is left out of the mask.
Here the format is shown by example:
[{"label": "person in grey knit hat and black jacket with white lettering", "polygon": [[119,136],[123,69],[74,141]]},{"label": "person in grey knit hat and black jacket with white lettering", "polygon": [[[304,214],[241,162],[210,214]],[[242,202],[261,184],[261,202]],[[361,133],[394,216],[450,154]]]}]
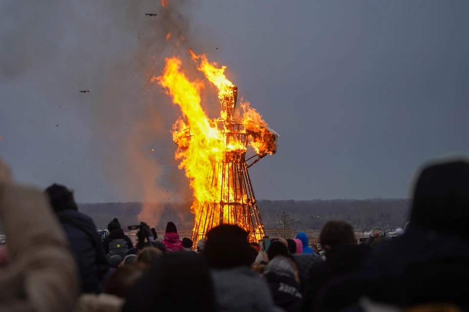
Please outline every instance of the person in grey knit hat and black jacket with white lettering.
[{"label": "person in grey knit hat and black jacket with white lettering", "polygon": [[301,292],[293,264],[285,257],[274,257],[265,267],[264,278],[275,304],[287,312],[301,311]]}]

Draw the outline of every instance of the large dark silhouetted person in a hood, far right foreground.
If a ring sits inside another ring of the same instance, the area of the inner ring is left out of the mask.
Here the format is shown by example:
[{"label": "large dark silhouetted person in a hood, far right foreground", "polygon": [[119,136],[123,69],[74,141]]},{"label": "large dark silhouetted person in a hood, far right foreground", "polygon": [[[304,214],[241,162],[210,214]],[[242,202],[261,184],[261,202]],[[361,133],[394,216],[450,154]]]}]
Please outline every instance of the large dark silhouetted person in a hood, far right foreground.
[{"label": "large dark silhouetted person in a hood, far right foreground", "polygon": [[[365,295],[399,307],[447,302],[469,310],[469,162],[427,165],[405,234],[365,261]],[[380,287],[376,287],[380,285]]]}]

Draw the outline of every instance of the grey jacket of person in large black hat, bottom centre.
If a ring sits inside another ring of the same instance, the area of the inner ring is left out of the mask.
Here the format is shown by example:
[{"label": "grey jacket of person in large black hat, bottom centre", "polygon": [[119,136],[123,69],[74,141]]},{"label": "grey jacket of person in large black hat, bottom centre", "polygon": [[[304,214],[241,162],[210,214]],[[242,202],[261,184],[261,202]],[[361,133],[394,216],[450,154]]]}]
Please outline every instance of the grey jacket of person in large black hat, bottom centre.
[{"label": "grey jacket of person in large black hat, bottom centre", "polygon": [[280,312],[265,280],[248,267],[213,270],[218,312]]}]

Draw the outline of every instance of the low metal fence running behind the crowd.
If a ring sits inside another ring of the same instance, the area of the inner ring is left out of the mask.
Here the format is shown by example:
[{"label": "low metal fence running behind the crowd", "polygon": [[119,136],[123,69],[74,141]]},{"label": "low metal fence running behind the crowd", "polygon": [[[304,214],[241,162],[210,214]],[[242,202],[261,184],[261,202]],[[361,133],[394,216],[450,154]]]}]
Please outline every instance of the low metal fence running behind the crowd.
[{"label": "low metal fence running behind the crowd", "polygon": [[[307,231],[300,231],[304,232],[308,238],[309,238],[309,243],[317,243],[319,242],[319,235],[321,233],[320,230],[307,230]],[[365,237],[365,234],[363,231],[353,231],[355,235],[355,239],[357,241],[360,240],[360,238]],[[179,238],[183,239],[184,237],[187,237],[192,240],[192,231],[177,231],[179,234]],[[298,231],[282,231],[282,230],[267,230],[265,231],[265,235],[269,236],[271,238],[275,237],[285,237],[285,238],[295,238],[296,235],[298,234]],[[165,231],[156,231],[156,234],[158,237],[163,237],[165,235]],[[126,232],[126,235],[130,238],[132,243],[135,245],[137,243],[137,232]]]}]

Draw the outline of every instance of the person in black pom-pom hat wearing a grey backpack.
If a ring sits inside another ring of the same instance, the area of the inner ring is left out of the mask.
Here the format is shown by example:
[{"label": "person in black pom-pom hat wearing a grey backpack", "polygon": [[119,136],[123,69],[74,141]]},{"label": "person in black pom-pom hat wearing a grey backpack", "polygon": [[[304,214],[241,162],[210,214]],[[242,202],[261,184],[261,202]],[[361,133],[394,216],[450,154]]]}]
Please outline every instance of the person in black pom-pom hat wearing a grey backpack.
[{"label": "person in black pom-pom hat wearing a grey backpack", "polygon": [[121,224],[114,218],[108,225],[109,235],[103,241],[104,251],[111,267],[117,267],[124,260],[128,250],[133,247],[130,238],[124,234]]}]

